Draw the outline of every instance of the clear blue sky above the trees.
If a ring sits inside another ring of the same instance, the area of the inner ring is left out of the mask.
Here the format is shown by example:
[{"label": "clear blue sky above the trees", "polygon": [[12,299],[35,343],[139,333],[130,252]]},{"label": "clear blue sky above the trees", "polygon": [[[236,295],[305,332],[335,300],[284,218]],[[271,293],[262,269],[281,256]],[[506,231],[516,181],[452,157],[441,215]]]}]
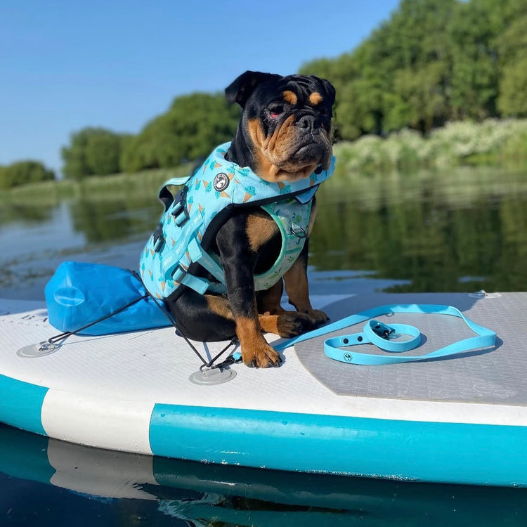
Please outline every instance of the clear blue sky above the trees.
[{"label": "clear blue sky above the trees", "polygon": [[137,133],[175,96],[351,51],[398,0],[1,0],[0,164],[60,169],[72,131]]}]

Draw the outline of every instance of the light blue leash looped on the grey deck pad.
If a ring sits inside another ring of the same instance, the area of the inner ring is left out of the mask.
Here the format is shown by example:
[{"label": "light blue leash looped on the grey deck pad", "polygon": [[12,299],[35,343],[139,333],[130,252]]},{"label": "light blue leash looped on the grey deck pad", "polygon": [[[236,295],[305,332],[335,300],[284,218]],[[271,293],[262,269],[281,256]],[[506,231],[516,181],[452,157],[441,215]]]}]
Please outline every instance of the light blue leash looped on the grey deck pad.
[{"label": "light blue leash looped on the grey deck pad", "polygon": [[[421,344],[421,332],[417,327],[408,324],[391,324],[386,325],[378,320],[370,320],[376,316],[389,315],[393,313],[429,313],[436,315],[450,315],[461,318],[465,324],[476,333],[476,337],[469,337],[449,344],[431,353],[426,353],[419,356],[397,356],[397,355],[378,355],[372,353],[358,353],[347,351],[350,346],[357,346],[358,344],[375,344],[379,349],[389,353],[401,353],[402,351],[410,351],[417,348]],[[495,346],[496,333],[486,327],[480,326],[467,318],[463,313],[453,306],[442,306],[440,304],[388,304],[385,306],[377,306],[375,308],[362,311],[356,315],[351,315],[334,323],[319,327],[311,332],[304,333],[298,337],[287,339],[279,342],[274,346],[276,351],[282,351],[289,346],[293,346],[299,342],[320,337],[322,335],[344,329],[351,325],[363,323],[367,320],[363,327],[363,331],[359,333],[342,335],[341,337],[332,337],[324,341],[324,353],[334,359],[343,363],[360,364],[360,365],[381,365],[381,364],[395,364],[408,363],[417,360],[430,360],[434,358],[441,358],[445,356],[458,355],[473,349],[482,349]],[[393,341],[393,337],[399,334],[408,334],[410,339],[405,341]]]}]

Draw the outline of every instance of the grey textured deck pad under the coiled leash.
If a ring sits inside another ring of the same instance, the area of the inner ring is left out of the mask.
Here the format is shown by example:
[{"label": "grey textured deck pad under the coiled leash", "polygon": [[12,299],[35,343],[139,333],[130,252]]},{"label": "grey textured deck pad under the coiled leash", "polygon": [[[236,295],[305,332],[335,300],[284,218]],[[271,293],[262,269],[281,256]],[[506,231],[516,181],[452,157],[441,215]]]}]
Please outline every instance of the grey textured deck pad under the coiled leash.
[{"label": "grey textured deck pad under the coiled leash", "polygon": [[[360,332],[363,324],[359,324],[296,344],[294,349],[306,370],[342,396],[526,405],[527,293],[504,293],[484,299],[467,294],[373,294],[337,301],[325,312],[332,320],[338,320],[383,304],[455,306],[475,323],[494,330],[497,346],[451,358],[373,366],[341,363],[324,355],[325,339]],[[475,335],[462,319],[449,315],[396,313],[376,318],[387,324],[419,328],[424,344],[405,352],[410,355],[423,355]],[[386,353],[372,344],[349,349]]]}]

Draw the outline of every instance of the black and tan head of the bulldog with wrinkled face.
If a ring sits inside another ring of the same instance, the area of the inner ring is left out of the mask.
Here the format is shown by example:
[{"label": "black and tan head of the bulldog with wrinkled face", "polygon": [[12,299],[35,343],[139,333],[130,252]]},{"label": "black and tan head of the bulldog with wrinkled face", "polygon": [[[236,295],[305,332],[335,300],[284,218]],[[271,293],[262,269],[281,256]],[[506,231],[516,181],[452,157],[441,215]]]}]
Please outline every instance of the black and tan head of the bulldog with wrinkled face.
[{"label": "black and tan head of the bulldog with wrinkled face", "polygon": [[297,181],[332,157],[333,86],[313,75],[247,71],[226,89],[242,107],[227,157],[266,181]]}]

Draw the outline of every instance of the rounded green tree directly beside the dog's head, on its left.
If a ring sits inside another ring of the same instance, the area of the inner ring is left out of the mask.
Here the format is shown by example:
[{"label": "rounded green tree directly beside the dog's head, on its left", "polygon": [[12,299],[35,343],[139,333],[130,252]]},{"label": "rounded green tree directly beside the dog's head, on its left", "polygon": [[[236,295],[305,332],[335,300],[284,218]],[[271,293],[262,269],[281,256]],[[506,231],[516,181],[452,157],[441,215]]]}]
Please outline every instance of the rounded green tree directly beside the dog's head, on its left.
[{"label": "rounded green tree directly beside the dog's head, on its left", "polygon": [[233,138],[239,117],[238,107],[228,105],[221,93],[177,97],[168,112],[129,141],[122,166],[125,171],[138,171],[206,157],[216,145]]}]

